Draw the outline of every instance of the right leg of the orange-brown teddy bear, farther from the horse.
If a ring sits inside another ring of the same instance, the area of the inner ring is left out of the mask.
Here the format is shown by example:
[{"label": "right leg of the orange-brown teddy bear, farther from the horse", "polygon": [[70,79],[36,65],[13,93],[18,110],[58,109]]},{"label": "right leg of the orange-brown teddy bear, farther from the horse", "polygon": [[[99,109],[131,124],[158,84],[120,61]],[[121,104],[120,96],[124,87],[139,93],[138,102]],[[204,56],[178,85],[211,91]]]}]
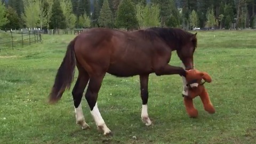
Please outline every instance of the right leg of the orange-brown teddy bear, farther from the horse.
[{"label": "right leg of the orange-brown teddy bear, farther from the horse", "polygon": [[208,111],[208,113],[210,113],[210,114],[214,114],[215,109],[214,109],[212,102],[209,98],[209,94],[208,94],[207,90],[204,90],[202,92],[202,94],[199,95],[199,97],[201,98],[201,100],[203,102],[204,110]]}]

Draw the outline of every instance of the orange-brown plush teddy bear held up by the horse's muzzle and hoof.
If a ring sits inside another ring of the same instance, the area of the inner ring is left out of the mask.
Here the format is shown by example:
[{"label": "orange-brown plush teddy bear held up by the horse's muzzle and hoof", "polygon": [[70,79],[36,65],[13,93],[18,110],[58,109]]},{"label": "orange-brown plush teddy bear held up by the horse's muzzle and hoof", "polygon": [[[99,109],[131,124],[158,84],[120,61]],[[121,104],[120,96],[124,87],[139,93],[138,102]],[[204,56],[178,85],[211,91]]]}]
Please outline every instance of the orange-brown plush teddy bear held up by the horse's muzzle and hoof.
[{"label": "orange-brown plush teddy bear held up by the horse's muzzle and hoof", "polygon": [[197,117],[198,111],[194,107],[193,99],[199,96],[203,102],[205,111],[210,114],[215,113],[215,109],[210,101],[209,94],[204,87],[205,82],[201,82],[204,79],[205,82],[211,83],[212,78],[205,72],[198,71],[196,69],[187,70],[187,86],[183,91],[184,104],[186,106],[187,113],[190,117]]}]

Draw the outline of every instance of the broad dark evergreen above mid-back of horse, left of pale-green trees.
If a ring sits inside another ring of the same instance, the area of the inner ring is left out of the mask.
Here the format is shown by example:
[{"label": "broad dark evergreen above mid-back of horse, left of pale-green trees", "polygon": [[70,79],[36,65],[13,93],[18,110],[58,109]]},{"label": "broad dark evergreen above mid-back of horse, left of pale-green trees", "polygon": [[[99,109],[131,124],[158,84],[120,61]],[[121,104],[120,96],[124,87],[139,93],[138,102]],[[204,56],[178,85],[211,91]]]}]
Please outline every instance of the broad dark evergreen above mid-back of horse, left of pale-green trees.
[{"label": "broad dark evergreen above mid-back of horse, left of pale-green trees", "polygon": [[116,26],[118,28],[126,28],[127,30],[138,28],[135,7],[131,0],[123,0],[119,4],[116,17]]}]

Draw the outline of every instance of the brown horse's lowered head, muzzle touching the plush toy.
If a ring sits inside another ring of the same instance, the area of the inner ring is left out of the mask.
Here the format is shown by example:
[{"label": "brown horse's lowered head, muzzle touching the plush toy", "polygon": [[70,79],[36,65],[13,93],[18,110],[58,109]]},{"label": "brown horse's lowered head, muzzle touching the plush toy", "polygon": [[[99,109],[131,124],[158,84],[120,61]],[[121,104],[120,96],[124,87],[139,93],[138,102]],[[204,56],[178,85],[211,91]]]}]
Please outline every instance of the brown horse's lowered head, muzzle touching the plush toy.
[{"label": "brown horse's lowered head, muzzle touching the plush toy", "polygon": [[177,54],[187,70],[194,69],[193,55],[197,46],[196,34],[188,36],[187,41],[177,49]]}]

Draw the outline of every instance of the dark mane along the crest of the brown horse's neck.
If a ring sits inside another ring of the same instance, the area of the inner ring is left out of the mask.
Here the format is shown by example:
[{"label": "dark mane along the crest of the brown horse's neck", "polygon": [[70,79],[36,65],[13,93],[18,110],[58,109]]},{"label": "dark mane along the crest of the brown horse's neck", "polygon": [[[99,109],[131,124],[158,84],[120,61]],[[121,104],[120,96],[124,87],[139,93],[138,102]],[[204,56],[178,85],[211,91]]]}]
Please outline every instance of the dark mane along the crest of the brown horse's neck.
[{"label": "dark mane along the crest of the brown horse's neck", "polygon": [[[173,41],[179,45],[186,44],[190,37],[193,35],[188,31],[179,29],[179,28],[160,28],[160,27],[151,27],[141,31],[143,35],[147,38],[150,38],[152,41],[158,37],[163,39],[166,43]],[[197,47],[197,38],[195,37],[191,41],[194,47]]]}]

